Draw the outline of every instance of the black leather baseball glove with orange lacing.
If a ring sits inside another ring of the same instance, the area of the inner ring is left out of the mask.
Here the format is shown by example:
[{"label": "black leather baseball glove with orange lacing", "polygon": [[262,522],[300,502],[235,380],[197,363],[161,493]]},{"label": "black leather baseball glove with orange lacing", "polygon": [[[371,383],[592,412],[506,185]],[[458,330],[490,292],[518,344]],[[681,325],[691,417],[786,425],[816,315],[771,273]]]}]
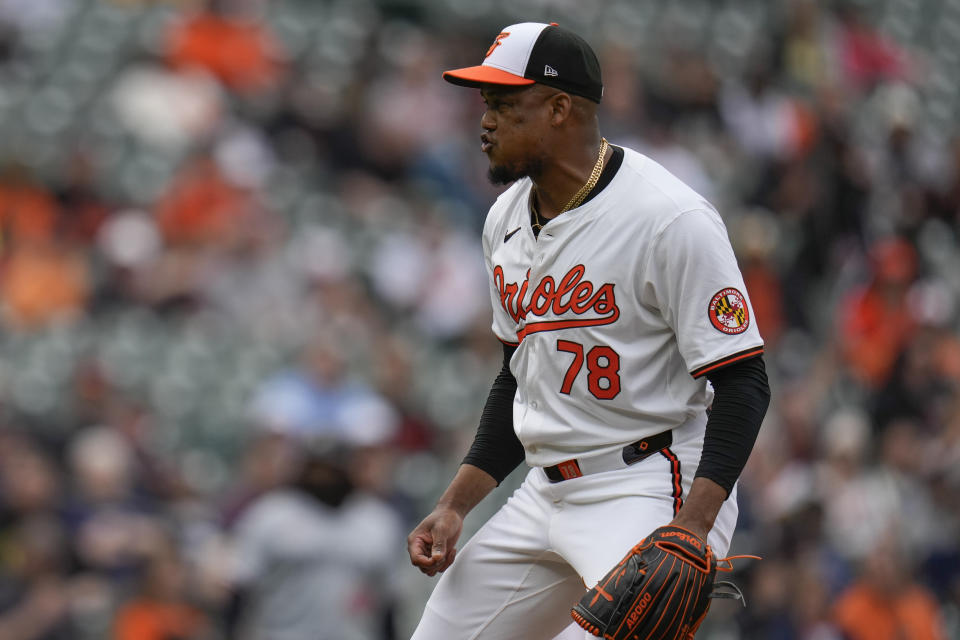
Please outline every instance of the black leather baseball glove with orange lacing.
[{"label": "black leather baseball glove with orange lacing", "polygon": [[710,607],[716,572],[704,540],[660,527],[587,591],[573,619],[607,640],[692,640]]}]

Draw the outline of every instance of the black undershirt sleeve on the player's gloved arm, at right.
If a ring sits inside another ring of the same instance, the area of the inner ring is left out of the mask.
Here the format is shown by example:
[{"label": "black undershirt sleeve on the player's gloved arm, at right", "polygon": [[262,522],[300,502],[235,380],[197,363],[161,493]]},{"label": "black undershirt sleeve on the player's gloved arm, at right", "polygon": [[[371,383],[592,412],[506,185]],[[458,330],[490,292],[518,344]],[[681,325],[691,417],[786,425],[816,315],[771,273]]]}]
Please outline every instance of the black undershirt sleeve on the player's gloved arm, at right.
[{"label": "black undershirt sleeve on the player's gloved arm, at right", "polygon": [[709,478],[730,495],[757,440],[770,403],[763,357],[741,360],[707,374],[713,405],[696,476]]}]

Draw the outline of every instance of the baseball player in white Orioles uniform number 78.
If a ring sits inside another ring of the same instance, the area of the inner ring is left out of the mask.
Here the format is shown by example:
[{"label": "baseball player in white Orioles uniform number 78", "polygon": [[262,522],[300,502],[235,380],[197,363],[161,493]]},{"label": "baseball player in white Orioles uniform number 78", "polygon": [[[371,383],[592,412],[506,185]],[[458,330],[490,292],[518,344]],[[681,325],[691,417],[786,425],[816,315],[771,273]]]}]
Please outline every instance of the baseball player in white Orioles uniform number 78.
[{"label": "baseball player in white Orioles uniform number 78", "polygon": [[[413,639],[546,640],[664,525],[708,542],[710,561],[726,554],[769,402],[763,340],[713,206],[600,136],[582,38],[514,24],[444,78],[480,89],[489,177],[513,183],[483,231],[504,364],[470,452],[408,538],[412,563],[443,573]],[[522,486],[458,553],[464,516],[523,461]],[[635,637],[581,612],[592,633]],[[563,637],[586,633],[574,628]]]}]

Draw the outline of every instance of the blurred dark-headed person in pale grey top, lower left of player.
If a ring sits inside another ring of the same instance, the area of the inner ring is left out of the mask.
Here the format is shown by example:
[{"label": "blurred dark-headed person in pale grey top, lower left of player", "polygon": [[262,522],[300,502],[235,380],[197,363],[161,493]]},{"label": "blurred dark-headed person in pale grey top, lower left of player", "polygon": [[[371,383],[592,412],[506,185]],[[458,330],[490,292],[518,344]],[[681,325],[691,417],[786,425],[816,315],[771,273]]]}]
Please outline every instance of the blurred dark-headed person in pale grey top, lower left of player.
[{"label": "blurred dark-headed person in pale grey top, lower left of player", "polygon": [[353,462],[338,446],[308,453],[292,486],[240,518],[231,637],[396,637],[386,629],[403,531],[389,507],[354,488]]}]

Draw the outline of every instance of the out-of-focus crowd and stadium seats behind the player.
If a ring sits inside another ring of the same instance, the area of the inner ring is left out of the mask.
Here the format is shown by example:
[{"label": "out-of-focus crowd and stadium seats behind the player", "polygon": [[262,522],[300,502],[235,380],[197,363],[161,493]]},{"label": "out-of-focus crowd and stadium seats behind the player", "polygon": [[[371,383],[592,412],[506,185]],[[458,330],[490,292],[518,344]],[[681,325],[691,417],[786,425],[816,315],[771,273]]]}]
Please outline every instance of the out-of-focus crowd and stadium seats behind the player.
[{"label": "out-of-focus crowd and stadium seats behind the player", "polygon": [[0,638],[409,637],[501,359],[440,73],[522,20],[717,205],[767,342],[764,559],[700,635],[960,638],[957,0],[0,0]]}]

